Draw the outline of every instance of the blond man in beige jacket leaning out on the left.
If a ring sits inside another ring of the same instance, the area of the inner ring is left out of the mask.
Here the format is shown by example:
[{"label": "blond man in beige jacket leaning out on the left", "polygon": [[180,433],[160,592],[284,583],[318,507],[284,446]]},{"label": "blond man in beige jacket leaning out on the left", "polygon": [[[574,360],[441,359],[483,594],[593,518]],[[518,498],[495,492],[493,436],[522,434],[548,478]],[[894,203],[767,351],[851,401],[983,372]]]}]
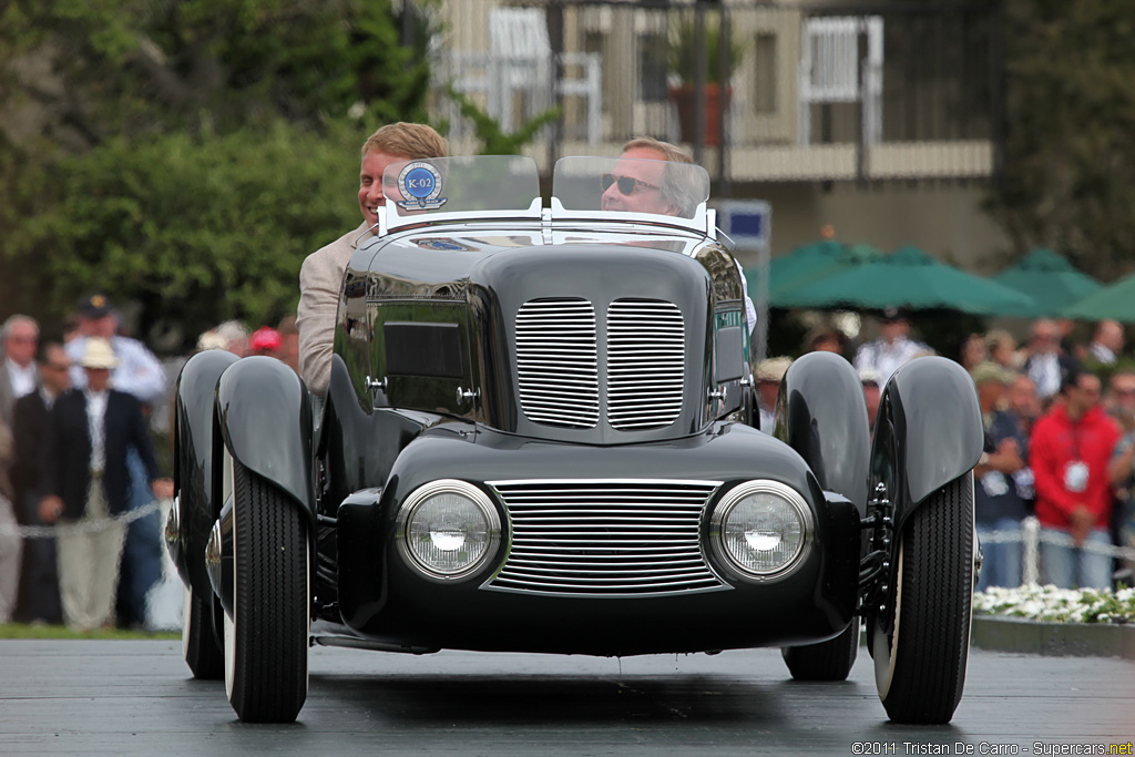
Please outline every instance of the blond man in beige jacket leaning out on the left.
[{"label": "blond man in beige jacket leaning out on the left", "polygon": [[300,331],[300,375],[316,394],[327,394],[331,379],[335,317],[343,274],[359,244],[378,233],[378,208],[386,204],[382,173],[392,163],[447,154],[448,144],[432,128],[403,121],[384,126],[362,145],[359,171],[362,224],[308,255],[300,269],[300,306],[295,321]]}]

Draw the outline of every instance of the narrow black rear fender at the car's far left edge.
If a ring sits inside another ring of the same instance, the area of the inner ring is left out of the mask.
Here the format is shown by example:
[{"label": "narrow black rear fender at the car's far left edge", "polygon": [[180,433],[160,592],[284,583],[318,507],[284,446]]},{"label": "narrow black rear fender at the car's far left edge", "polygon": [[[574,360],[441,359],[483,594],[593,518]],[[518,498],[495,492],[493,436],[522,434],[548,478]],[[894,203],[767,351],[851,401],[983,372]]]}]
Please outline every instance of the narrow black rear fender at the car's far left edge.
[{"label": "narrow black rear fender at the car's far left edge", "polygon": [[177,512],[167,528],[166,544],[182,580],[199,596],[209,596],[204,567],[205,544],[217,519],[212,498],[213,399],[217,380],[237,358],[207,350],[186,361],[174,396],[174,489]]}]

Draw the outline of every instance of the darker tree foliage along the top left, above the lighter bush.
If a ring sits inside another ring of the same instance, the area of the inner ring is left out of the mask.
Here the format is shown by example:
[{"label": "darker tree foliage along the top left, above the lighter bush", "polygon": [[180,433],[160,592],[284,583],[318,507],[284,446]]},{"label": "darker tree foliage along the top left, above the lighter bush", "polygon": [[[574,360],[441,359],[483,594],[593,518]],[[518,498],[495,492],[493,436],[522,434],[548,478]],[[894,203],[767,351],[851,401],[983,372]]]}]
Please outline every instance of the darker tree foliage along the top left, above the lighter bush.
[{"label": "darker tree foliage along the top left, above the lighter bush", "polygon": [[401,45],[389,0],[16,0],[0,14],[0,110],[40,109],[51,142],[314,127],[356,103],[426,117],[424,56]]}]

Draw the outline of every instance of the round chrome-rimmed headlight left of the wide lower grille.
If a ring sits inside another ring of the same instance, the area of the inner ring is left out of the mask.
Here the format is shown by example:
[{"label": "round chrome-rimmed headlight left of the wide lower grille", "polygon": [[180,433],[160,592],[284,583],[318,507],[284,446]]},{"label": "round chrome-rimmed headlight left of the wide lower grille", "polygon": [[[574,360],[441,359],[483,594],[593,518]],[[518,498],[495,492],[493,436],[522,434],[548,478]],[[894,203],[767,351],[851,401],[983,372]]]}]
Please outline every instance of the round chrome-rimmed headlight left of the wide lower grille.
[{"label": "round chrome-rimmed headlight left of the wide lower grille", "polygon": [[436,579],[474,572],[495,552],[501,520],[488,497],[444,479],[414,491],[398,511],[400,546],[411,565]]}]

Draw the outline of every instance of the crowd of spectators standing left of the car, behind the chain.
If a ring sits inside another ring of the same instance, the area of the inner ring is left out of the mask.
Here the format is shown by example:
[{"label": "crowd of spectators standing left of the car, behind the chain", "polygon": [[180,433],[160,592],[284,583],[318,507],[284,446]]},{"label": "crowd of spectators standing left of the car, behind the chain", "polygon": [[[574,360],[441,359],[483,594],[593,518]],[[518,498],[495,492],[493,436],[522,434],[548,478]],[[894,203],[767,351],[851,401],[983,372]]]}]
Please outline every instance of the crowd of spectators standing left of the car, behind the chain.
[{"label": "crowd of spectators standing left of the car, behind the chain", "polygon": [[[196,348],[297,370],[297,340],[295,317],[251,334],[227,321]],[[171,445],[184,360],[131,338],[102,294],[84,297],[61,340],[41,339],[27,316],[0,326],[0,623],[150,625],[165,549],[155,501],[173,496],[155,443]]]}]

